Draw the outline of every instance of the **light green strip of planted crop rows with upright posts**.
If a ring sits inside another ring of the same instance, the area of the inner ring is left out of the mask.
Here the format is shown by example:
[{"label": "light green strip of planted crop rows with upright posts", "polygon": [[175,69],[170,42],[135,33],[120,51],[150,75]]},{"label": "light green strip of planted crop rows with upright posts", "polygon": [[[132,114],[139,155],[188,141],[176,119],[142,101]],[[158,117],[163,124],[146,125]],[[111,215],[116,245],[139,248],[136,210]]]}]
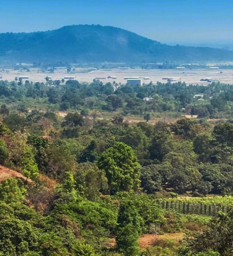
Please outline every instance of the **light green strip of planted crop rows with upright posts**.
[{"label": "light green strip of planted crop rows with upright posts", "polygon": [[157,204],[165,210],[174,210],[182,214],[216,216],[219,211],[227,212],[232,208],[233,197],[162,198],[157,199]]}]

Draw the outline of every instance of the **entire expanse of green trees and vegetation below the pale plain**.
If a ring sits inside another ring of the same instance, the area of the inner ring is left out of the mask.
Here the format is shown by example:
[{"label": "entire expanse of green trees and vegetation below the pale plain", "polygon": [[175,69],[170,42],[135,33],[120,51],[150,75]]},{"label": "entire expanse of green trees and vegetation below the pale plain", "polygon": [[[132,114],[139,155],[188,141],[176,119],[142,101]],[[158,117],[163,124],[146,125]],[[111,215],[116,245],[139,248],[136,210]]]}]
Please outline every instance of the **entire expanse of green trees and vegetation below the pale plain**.
[{"label": "entire expanse of green trees and vegetation below the pale plain", "polygon": [[0,255],[232,254],[231,86],[0,81],[0,92],[0,163],[24,175],[0,170]]}]

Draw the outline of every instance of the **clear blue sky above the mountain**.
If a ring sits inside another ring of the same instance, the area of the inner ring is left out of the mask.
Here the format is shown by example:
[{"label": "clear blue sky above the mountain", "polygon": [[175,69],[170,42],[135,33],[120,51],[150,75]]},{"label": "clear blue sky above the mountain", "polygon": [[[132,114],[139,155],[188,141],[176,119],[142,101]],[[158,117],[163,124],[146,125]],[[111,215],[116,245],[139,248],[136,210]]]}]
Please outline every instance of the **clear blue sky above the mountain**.
[{"label": "clear blue sky above the mountain", "polygon": [[233,49],[232,0],[1,0],[0,33],[111,25],[174,45]]}]

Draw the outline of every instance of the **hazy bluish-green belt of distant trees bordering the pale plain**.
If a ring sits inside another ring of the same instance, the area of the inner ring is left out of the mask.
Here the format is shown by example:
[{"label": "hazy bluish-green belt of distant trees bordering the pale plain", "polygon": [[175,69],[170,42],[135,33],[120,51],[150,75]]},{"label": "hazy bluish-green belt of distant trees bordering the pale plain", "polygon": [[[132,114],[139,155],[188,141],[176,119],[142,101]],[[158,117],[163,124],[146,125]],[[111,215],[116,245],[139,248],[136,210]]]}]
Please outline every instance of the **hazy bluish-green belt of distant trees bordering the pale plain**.
[{"label": "hazy bluish-green belt of distant trees bordering the pale plain", "polygon": [[47,108],[54,110],[98,110],[122,116],[133,114],[146,120],[162,113],[166,116],[231,118],[233,107],[233,87],[219,82],[208,86],[187,86],[181,82],[122,86],[99,80],[90,84],[77,80],[64,82],[64,79],[47,79],[46,83],[1,80],[0,96],[2,104],[6,105],[2,111],[7,105],[13,104],[20,110],[32,108],[33,101],[40,101],[40,104],[42,101],[42,105],[47,104]]}]

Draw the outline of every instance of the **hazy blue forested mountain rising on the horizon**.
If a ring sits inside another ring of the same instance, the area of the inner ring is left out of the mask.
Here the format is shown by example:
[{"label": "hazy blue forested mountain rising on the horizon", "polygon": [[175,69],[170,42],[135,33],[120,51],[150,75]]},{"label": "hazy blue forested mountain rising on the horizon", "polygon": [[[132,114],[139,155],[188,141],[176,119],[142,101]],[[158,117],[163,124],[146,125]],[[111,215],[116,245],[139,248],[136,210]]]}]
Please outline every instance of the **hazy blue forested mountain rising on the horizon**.
[{"label": "hazy blue forested mountain rising on the horizon", "polygon": [[33,33],[0,33],[0,64],[232,60],[232,51],[169,46],[124,29],[101,25],[71,25]]}]

